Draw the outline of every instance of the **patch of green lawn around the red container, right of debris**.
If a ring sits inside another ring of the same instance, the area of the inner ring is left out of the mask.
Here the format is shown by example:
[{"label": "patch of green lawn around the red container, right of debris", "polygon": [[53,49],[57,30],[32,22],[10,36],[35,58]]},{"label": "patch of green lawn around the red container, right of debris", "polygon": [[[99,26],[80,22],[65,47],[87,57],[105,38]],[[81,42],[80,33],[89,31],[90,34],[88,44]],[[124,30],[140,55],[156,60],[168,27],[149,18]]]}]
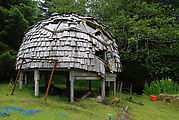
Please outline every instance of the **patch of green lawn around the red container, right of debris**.
[{"label": "patch of green lawn around the red container, right of debris", "polygon": [[[129,95],[122,95],[122,99]],[[166,103],[150,101],[149,96],[132,95],[134,101],[142,102],[144,106],[122,100],[122,104],[129,106],[129,112],[134,120],[179,120],[179,101]]]}]

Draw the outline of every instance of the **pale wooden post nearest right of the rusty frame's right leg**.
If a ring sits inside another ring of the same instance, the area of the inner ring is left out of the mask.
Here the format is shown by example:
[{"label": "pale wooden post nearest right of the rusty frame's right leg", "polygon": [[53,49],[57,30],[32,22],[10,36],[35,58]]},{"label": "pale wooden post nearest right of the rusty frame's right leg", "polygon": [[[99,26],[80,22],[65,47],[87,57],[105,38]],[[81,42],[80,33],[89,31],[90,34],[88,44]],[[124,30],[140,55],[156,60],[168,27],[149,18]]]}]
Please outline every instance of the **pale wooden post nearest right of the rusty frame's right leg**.
[{"label": "pale wooden post nearest right of the rusty frame's right leg", "polygon": [[72,75],[72,72],[69,73],[70,78],[70,102],[74,102],[74,77]]}]

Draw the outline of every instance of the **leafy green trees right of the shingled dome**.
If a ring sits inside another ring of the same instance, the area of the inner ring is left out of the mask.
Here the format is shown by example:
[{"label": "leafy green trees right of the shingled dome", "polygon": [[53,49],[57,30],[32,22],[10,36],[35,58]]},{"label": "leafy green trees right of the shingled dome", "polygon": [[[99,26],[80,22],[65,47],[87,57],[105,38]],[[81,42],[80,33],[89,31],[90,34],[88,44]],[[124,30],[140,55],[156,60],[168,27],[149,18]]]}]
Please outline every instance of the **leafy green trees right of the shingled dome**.
[{"label": "leafy green trees right of the shingled dome", "polygon": [[136,76],[125,71],[132,69],[129,62],[134,63],[133,66],[138,63],[148,71],[150,78],[145,80],[162,76],[179,80],[176,74],[179,72],[178,9],[173,2],[146,1],[98,0],[91,4],[89,14],[107,25],[116,38],[123,73],[131,76],[130,79]]}]

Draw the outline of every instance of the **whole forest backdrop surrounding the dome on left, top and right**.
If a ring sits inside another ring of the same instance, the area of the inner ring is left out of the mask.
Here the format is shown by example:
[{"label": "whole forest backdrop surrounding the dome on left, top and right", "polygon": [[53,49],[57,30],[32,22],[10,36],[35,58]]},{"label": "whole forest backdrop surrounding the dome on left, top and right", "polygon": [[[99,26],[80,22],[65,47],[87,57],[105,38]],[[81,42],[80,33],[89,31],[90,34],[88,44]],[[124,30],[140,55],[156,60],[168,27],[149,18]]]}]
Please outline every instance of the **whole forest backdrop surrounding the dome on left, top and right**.
[{"label": "whole forest backdrop surrounding the dome on left, top and right", "polygon": [[0,0],[0,82],[15,78],[25,31],[52,13],[94,17],[115,38],[123,71],[118,81],[142,92],[145,82],[179,82],[178,0]]}]

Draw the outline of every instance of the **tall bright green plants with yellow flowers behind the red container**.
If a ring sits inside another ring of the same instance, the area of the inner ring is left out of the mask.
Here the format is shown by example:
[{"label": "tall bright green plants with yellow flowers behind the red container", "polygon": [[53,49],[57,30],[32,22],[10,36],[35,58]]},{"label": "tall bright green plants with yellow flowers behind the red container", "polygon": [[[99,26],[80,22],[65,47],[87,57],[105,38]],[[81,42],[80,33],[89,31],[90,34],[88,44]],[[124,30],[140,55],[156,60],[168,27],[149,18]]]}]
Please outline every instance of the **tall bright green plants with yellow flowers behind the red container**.
[{"label": "tall bright green plants with yellow flowers behind the red container", "polygon": [[144,93],[146,95],[159,95],[163,94],[177,94],[179,93],[179,84],[175,83],[172,79],[162,79],[145,83]]}]

